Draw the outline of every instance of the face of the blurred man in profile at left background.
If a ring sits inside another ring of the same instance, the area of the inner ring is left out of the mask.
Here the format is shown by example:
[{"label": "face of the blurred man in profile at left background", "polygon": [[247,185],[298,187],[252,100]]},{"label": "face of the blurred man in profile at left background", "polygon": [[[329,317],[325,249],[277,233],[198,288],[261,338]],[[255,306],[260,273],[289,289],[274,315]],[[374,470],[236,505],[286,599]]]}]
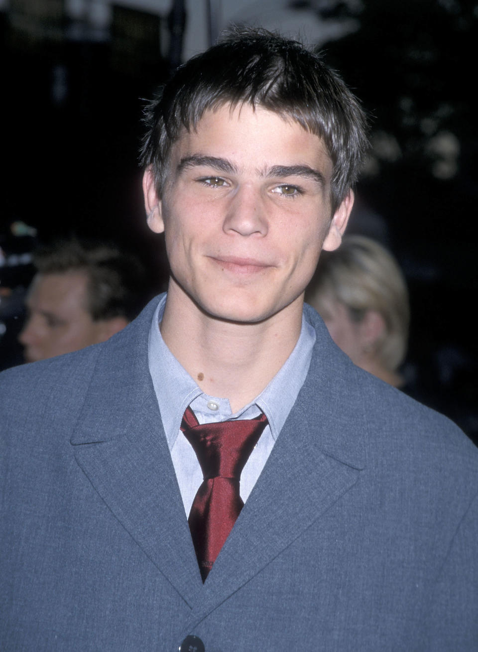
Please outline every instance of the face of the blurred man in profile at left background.
[{"label": "face of the blurred man in profile at left background", "polygon": [[27,298],[29,318],[19,340],[27,362],[70,353],[101,341],[102,322],[87,312],[81,272],[37,274]]}]

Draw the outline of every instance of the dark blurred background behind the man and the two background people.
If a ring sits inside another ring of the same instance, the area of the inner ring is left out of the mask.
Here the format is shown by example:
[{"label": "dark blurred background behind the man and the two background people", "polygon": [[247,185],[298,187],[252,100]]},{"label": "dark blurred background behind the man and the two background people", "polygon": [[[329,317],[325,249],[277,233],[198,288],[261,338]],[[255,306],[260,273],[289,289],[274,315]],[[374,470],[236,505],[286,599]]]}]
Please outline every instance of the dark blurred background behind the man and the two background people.
[{"label": "dark blurred background behind the man and the two background people", "polygon": [[320,46],[363,101],[373,147],[350,231],[388,246],[406,276],[408,383],[476,441],[472,0],[0,0],[0,368],[21,361],[38,244],[113,241],[139,253],[151,288],[164,289],[162,241],[143,215],[143,100],[231,23]]}]

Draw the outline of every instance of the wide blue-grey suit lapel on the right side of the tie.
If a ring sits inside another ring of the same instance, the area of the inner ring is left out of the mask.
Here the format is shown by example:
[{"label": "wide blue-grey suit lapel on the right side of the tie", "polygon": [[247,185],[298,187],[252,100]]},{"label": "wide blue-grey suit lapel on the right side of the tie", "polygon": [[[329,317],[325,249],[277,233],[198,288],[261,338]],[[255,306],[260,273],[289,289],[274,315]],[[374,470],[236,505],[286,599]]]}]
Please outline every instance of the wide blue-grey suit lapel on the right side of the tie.
[{"label": "wide blue-grey suit lapel on the right side of the tie", "polygon": [[[305,385],[207,578],[190,628],[300,537],[365,466],[366,418],[359,388],[354,391],[355,367],[322,327]],[[346,387],[343,378],[350,379]]]}]

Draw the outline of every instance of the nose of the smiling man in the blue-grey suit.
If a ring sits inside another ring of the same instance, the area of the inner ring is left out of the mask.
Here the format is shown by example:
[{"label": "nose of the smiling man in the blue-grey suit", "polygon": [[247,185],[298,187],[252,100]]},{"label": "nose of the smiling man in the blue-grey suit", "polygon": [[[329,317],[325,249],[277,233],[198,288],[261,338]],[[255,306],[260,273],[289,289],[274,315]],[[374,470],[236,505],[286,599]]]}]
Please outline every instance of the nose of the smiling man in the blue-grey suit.
[{"label": "nose of the smiling man in the blue-grey suit", "polygon": [[228,205],[223,229],[239,235],[266,235],[269,224],[265,200],[252,186],[241,186]]}]

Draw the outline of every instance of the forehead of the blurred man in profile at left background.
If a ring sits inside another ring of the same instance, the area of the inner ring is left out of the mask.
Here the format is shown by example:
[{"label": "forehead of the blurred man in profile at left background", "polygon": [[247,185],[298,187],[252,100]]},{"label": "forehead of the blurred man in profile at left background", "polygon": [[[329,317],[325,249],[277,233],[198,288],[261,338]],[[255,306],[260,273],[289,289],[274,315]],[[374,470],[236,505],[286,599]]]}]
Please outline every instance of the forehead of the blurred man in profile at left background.
[{"label": "forehead of the blurred man in profile at left background", "polygon": [[37,274],[29,289],[31,310],[67,313],[85,312],[87,276],[83,272]]}]

